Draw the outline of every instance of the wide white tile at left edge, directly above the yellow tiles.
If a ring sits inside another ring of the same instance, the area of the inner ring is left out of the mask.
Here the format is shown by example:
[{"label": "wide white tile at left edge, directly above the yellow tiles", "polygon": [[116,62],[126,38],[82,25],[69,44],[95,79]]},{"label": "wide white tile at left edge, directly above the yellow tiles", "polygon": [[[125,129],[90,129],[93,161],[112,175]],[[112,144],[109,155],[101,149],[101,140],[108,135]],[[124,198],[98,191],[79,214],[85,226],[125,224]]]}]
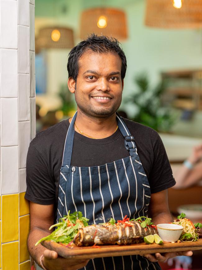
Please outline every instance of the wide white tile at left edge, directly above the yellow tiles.
[{"label": "wide white tile at left edge, directly above the yellow tiles", "polygon": [[2,194],[18,193],[18,146],[1,147]]}]

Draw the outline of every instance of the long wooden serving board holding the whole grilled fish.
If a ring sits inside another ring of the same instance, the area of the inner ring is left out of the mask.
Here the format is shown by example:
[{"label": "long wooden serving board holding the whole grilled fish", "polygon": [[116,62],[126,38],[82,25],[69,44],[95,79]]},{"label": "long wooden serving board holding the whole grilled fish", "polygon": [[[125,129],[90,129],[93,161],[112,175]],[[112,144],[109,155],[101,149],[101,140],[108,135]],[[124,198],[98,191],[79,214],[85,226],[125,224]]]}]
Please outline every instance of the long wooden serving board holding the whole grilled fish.
[{"label": "long wooden serving board holding the whole grilled fish", "polygon": [[202,249],[202,239],[196,242],[181,242],[163,244],[130,244],[130,245],[111,245],[97,247],[67,247],[64,244],[58,244],[53,241],[43,241],[44,247],[55,250],[63,258],[93,259],[100,257],[125,256],[125,255],[143,255],[147,253],[164,253],[175,251],[187,251]]}]

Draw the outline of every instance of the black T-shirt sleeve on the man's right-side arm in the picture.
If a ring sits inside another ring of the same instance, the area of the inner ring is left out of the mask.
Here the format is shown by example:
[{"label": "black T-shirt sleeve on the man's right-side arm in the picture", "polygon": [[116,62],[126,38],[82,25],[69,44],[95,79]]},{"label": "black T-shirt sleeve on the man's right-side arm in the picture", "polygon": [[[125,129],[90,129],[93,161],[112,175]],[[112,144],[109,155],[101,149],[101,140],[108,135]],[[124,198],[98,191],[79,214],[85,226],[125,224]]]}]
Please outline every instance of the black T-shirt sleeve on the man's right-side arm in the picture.
[{"label": "black T-shirt sleeve on the man's right-side arm in the picture", "polygon": [[168,189],[175,185],[172,169],[166,154],[163,142],[158,135],[154,144],[154,160],[152,170],[149,174],[149,184],[151,193],[156,193]]}]

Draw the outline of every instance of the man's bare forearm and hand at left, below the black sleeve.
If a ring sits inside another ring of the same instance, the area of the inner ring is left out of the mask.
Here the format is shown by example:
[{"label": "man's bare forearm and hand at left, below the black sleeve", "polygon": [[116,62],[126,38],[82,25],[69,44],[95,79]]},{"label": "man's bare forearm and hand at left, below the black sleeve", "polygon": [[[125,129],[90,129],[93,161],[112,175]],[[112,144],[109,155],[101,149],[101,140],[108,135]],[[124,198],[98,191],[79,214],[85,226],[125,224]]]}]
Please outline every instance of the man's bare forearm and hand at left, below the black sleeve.
[{"label": "man's bare forearm and hand at left, below the black sleeve", "polygon": [[34,261],[40,265],[42,263],[47,270],[76,270],[83,268],[88,260],[69,260],[58,257],[57,252],[44,248],[41,244],[35,247],[35,243],[49,235],[49,227],[54,223],[54,205],[40,205],[30,201],[30,234],[27,240],[28,250]]}]

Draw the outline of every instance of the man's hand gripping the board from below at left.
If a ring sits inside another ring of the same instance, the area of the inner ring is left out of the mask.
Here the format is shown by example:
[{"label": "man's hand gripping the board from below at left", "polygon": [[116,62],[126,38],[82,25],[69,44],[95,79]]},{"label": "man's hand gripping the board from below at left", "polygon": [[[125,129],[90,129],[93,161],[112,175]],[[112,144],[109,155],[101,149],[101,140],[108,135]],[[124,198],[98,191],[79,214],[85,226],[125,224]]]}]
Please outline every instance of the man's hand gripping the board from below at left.
[{"label": "man's hand gripping the board from below at left", "polygon": [[89,260],[58,258],[57,252],[49,249],[44,250],[42,257],[42,263],[47,270],[76,270],[83,268],[88,262]]}]

